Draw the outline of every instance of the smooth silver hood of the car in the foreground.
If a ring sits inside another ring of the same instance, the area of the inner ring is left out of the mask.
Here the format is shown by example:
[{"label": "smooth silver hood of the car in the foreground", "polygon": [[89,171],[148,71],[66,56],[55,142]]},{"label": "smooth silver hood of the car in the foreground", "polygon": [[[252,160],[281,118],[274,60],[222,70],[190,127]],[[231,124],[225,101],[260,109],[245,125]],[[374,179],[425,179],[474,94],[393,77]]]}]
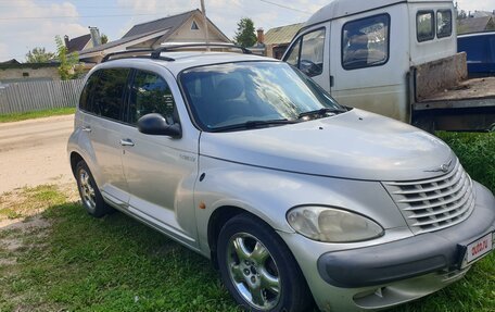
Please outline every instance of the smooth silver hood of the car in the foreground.
[{"label": "smooth silver hood of the car in the foreground", "polygon": [[203,133],[200,153],[272,170],[367,180],[437,176],[441,165],[455,158],[439,138],[357,109],[297,124]]}]

